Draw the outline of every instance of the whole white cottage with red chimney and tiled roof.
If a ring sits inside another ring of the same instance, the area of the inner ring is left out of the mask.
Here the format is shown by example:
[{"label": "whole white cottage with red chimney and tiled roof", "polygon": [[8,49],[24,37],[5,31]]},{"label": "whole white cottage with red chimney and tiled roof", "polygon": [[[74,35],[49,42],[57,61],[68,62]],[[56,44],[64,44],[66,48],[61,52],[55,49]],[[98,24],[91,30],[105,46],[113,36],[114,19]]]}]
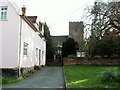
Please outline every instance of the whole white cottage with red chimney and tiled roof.
[{"label": "whole white cottage with red chimney and tiled roof", "polygon": [[46,63],[44,25],[38,28],[37,16],[20,15],[9,0],[0,0],[0,68],[3,73],[21,75]]}]

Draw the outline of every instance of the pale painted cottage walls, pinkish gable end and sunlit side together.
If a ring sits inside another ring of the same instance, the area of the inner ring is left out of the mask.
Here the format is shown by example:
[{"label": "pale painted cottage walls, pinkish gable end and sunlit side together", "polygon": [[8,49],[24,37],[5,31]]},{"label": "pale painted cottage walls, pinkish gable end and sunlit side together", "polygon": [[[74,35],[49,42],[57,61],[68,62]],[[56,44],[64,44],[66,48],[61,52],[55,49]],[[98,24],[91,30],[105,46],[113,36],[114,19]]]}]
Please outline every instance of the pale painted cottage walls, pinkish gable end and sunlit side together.
[{"label": "pale painted cottage walls, pinkish gable end and sunlit side together", "polygon": [[[38,36],[38,33],[18,15],[15,8],[7,2],[1,3],[0,6],[8,6],[8,19],[0,21],[0,60],[2,58],[2,65],[0,68],[16,68],[19,66],[19,33],[22,20],[21,32],[21,53],[20,53],[20,67],[31,67],[39,65],[39,57],[36,57],[36,48],[44,51],[44,56],[40,64],[45,65],[46,60],[46,42],[43,38]],[[2,35],[1,35],[2,33]],[[24,42],[28,43],[28,56],[23,55]],[[1,54],[2,53],[2,54]]]}]

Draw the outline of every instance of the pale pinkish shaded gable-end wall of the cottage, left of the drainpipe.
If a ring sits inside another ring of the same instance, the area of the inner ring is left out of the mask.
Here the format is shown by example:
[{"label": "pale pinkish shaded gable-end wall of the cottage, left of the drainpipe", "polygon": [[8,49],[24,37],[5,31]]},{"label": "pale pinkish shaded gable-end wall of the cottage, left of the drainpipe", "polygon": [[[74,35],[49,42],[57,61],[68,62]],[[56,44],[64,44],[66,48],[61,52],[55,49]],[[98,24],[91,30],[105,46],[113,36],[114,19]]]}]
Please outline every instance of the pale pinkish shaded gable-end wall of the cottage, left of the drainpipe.
[{"label": "pale pinkish shaded gable-end wall of the cottage, left of the drainpipe", "polygon": [[[15,68],[18,66],[18,31],[19,16],[12,5],[7,2],[0,2],[0,6],[8,6],[7,20],[0,21],[2,31],[2,65],[0,68]],[[1,44],[1,39],[0,39]]]}]

